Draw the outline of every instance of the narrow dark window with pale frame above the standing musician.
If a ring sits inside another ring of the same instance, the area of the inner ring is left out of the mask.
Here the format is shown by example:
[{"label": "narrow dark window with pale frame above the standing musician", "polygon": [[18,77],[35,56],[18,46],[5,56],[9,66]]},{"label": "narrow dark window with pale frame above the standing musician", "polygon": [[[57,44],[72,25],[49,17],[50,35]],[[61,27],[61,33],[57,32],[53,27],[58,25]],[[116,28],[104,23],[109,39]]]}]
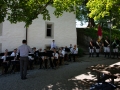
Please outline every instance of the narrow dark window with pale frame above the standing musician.
[{"label": "narrow dark window with pale frame above the standing musician", "polygon": [[46,37],[53,38],[53,23],[46,23]]}]

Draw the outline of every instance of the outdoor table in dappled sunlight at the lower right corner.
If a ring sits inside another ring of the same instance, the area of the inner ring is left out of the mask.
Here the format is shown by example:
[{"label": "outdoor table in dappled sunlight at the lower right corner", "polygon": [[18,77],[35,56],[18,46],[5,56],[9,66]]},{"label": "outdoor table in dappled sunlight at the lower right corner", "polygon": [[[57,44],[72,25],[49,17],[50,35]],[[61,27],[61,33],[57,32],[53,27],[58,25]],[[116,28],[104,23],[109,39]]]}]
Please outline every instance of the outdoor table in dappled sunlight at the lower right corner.
[{"label": "outdoor table in dappled sunlight at the lower right corner", "polygon": [[[114,84],[114,79],[120,76],[120,65],[114,66],[107,66],[107,65],[94,65],[88,67],[87,69],[91,70],[92,72],[97,73],[97,81],[105,82],[106,79],[111,78],[111,83]],[[101,75],[102,74],[102,75]]]}]

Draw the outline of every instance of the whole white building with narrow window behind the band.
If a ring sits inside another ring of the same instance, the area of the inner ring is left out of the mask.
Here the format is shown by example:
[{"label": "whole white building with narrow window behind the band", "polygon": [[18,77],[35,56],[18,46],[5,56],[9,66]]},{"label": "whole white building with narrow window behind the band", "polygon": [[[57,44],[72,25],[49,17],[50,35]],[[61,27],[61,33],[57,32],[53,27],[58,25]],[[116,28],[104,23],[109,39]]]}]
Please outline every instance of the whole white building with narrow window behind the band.
[{"label": "whole white building with narrow window behind the band", "polygon": [[[77,44],[75,14],[64,13],[56,18],[53,15],[54,8],[49,7],[51,20],[44,21],[43,17],[33,20],[27,30],[27,44],[30,47],[45,48],[54,39],[58,47]],[[0,52],[17,48],[26,39],[24,23],[11,24],[5,21],[0,24]]]}]

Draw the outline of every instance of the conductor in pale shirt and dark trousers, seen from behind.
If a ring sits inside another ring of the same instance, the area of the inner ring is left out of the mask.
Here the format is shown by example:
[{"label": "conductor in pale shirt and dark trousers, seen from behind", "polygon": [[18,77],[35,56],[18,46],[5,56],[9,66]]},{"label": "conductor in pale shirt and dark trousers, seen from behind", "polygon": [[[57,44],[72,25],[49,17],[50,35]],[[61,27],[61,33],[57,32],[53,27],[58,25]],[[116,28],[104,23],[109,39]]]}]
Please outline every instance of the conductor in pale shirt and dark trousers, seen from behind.
[{"label": "conductor in pale shirt and dark trousers, seen from behind", "polygon": [[18,48],[17,53],[20,53],[20,75],[21,79],[24,80],[27,79],[28,54],[29,52],[32,53],[32,49],[26,45],[26,40],[23,40],[22,43],[23,45]]}]

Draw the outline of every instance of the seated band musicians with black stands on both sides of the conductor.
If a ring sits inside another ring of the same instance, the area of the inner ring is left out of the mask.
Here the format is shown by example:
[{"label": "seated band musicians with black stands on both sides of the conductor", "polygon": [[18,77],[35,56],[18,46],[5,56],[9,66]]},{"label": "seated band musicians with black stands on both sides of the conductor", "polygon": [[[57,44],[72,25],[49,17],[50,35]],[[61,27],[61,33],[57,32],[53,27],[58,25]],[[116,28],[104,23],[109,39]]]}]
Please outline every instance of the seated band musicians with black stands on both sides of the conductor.
[{"label": "seated band musicians with black stands on both sides of the conductor", "polygon": [[[32,48],[33,53],[29,53],[28,69],[34,69],[34,66],[38,66],[38,69],[57,69],[59,66],[66,64],[65,62],[76,61],[78,55],[78,48],[70,44],[69,47],[60,48],[47,48],[36,49]],[[20,56],[17,53],[17,48],[13,51],[0,53],[0,67],[2,74],[15,73],[20,70]]]}]

